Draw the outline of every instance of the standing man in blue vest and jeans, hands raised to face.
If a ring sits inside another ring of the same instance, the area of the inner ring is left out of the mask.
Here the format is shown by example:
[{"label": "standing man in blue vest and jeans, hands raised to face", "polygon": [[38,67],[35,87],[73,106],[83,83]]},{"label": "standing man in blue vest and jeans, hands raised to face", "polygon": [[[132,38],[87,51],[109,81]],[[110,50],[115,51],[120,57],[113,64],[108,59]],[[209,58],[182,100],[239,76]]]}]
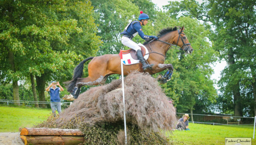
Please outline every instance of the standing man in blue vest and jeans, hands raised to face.
[{"label": "standing man in blue vest and jeans, hands raised to face", "polygon": [[[56,87],[58,85],[59,87]],[[51,108],[52,113],[54,113],[54,116],[56,116],[56,108],[58,110],[58,113],[61,113],[61,99],[60,99],[60,91],[63,91],[63,87],[59,84],[59,82],[52,81],[52,84],[49,85],[45,89],[47,92],[50,92],[51,97]]]}]

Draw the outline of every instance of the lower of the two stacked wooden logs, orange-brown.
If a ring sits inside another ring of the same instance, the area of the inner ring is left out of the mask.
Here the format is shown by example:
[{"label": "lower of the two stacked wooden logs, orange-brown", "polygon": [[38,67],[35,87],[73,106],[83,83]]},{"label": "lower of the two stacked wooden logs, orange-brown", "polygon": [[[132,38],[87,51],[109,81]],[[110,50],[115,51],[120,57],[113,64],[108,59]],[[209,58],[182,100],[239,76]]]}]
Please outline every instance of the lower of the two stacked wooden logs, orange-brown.
[{"label": "lower of the two stacked wooden logs, orange-brown", "polygon": [[25,145],[79,145],[84,136],[20,136]]}]

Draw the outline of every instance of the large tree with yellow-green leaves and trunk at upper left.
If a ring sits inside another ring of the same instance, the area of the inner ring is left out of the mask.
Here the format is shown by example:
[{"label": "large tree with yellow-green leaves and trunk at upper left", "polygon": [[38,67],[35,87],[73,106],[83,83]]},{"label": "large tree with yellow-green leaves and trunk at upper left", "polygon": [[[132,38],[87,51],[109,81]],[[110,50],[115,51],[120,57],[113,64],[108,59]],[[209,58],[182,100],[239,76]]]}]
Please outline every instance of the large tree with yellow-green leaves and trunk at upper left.
[{"label": "large tree with yellow-green leaves and trunk at upper left", "polygon": [[[45,101],[46,82],[70,79],[74,63],[95,54],[101,44],[90,5],[88,0],[2,1],[1,79],[35,75],[39,101]],[[8,52],[15,70],[8,67]]]}]

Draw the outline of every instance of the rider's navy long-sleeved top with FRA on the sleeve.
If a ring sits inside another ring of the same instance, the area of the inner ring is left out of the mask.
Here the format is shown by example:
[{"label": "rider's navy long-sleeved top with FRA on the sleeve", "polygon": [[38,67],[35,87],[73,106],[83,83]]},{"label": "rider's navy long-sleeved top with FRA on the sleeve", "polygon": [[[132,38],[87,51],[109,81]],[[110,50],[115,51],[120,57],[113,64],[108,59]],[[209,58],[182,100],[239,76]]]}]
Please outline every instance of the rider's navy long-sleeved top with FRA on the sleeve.
[{"label": "rider's navy long-sleeved top with FRA on the sleeve", "polygon": [[127,35],[127,36],[129,36],[132,39],[132,38],[134,38],[135,35],[137,35],[136,34],[137,32],[140,35],[140,37],[143,38],[143,39],[153,38],[153,36],[145,35],[143,33],[142,27],[140,26],[140,22],[139,21],[131,22],[131,24],[127,27],[126,31],[123,31],[120,34]]}]

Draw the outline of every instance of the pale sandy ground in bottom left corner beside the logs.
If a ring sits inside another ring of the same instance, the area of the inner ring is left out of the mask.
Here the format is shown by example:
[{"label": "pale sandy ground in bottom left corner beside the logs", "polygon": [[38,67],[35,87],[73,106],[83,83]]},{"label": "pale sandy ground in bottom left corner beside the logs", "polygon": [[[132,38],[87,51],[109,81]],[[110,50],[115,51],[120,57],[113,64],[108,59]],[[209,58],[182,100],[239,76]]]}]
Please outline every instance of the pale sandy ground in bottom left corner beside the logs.
[{"label": "pale sandy ground in bottom left corner beside the logs", "polygon": [[20,139],[20,132],[0,133],[0,145],[24,145]]}]

